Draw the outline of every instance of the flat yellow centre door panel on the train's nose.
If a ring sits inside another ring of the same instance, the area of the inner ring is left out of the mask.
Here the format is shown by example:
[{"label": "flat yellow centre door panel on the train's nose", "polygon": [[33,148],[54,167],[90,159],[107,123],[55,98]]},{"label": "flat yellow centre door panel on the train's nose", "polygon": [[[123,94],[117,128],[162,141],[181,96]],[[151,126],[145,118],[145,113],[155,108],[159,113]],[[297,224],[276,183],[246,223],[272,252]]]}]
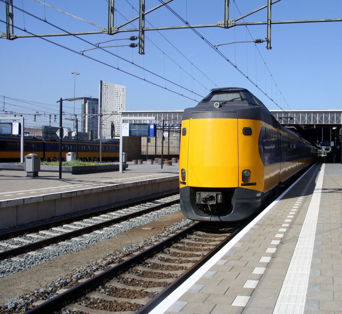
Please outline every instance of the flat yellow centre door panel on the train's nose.
[{"label": "flat yellow centre door panel on the train's nose", "polygon": [[190,119],[188,130],[188,185],[237,187],[237,119]]}]

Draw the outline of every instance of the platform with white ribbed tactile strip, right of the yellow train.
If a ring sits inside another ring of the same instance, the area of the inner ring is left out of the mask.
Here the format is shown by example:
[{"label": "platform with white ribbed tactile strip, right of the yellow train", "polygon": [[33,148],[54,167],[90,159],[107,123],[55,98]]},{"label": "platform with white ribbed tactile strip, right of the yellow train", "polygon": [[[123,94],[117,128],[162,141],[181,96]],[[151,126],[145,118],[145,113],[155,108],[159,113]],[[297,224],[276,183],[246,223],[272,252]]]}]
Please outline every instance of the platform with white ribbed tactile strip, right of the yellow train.
[{"label": "platform with white ribbed tactile strip, right of the yellow train", "polygon": [[149,314],[342,313],[341,177],[316,163]]}]

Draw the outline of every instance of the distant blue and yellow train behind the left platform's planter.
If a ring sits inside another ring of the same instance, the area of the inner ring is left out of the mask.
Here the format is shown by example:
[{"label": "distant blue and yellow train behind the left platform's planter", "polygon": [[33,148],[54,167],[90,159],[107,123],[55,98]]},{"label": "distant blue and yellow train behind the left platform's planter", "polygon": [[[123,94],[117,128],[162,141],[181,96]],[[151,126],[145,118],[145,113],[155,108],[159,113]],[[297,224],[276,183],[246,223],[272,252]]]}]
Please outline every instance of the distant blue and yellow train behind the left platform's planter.
[{"label": "distant blue and yellow train behind the left platform's planter", "polygon": [[[0,162],[20,162],[20,136],[0,135]],[[102,140],[102,161],[119,160],[119,139]],[[24,155],[34,153],[51,161],[59,158],[59,139],[24,136]],[[66,153],[76,153],[76,140],[63,139],[62,159]],[[100,142],[78,140],[78,158],[84,161],[100,160]]]}]

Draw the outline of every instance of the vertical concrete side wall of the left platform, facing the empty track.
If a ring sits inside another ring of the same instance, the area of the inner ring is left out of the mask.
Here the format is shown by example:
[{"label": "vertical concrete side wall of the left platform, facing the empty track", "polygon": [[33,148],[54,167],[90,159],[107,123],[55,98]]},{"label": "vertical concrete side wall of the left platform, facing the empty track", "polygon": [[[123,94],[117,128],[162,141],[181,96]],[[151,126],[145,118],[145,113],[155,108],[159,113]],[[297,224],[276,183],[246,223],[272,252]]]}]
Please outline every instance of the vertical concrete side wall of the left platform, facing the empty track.
[{"label": "vertical concrete side wall of the left platform, facing the empty track", "polygon": [[179,188],[179,176],[0,201],[0,228]]}]

